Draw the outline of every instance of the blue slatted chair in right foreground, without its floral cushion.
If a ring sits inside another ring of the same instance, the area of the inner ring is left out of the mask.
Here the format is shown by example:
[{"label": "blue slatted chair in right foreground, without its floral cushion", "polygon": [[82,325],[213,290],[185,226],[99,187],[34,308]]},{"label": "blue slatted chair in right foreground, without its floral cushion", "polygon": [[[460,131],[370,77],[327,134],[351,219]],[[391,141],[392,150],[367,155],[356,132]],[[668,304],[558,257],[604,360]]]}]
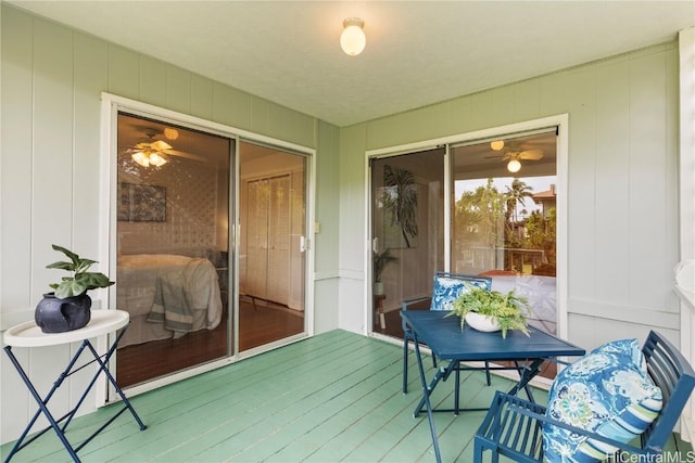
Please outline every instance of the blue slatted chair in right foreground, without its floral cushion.
[{"label": "blue slatted chair in right foreground, without its floral cushion", "polygon": [[695,372],[681,352],[654,331],[649,333],[642,352],[647,374],[661,389],[662,408],[656,420],[640,435],[640,447],[551,419],[546,416],[545,407],[497,391],[476,433],[473,462],[482,463],[486,450],[492,451],[493,462],[497,462],[501,454],[517,462],[542,462],[543,423],[618,448],[615,461],[629,461],[619,456],[622,452],[639,455],[639,461],[657,461],[695,387]]}]

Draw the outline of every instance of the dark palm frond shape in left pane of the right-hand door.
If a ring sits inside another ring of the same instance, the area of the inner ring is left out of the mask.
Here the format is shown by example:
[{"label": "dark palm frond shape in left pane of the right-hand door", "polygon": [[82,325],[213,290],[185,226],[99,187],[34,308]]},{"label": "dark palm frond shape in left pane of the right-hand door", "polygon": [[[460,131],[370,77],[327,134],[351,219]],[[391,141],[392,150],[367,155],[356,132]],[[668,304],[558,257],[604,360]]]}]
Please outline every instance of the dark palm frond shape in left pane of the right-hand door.
[{"label": "dark palm frond shape in left pane of the right-hand door", "polygon": [[417,236],[417,185],[415,176],[406,169],[383,166],[383,183],[387,194],[383,205],[391,213],[391,224],[401,227],[406,247],[410,247],[408,236]]}]

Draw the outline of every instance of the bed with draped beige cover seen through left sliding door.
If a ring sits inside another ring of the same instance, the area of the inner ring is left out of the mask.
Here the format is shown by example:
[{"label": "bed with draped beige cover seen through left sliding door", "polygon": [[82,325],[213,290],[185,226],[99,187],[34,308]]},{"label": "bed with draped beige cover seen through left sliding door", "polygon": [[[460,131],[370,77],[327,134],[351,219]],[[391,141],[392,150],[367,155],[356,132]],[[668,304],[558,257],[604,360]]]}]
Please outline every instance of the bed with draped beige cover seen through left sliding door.
[{"label": "bed with draped beige cover seen through left sliding door", "polygon": [[[116,307],[130,313],[130,326],[119,347],[214,330],[222,320],[219,281],[207,259],[166,254],[121,256],[116,297]],[[186,323],[177,323],[181,318]]]}]

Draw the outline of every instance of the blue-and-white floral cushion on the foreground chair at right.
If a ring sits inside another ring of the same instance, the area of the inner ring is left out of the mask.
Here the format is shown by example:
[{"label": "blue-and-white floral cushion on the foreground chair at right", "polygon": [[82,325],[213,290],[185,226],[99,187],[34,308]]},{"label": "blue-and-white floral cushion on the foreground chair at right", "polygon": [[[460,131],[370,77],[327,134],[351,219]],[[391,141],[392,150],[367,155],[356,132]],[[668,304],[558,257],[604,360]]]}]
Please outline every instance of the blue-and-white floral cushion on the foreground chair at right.
[{"label": "blue-and-white floral cushion on the foreground chair at right", "polygon": [[[646,372],[637,339],[606,343],[563,370],[551,386],[546,415],[628,442],[661,410],[661,390]],[[548,462],[598,462],[617,449],[543,424]]]}]

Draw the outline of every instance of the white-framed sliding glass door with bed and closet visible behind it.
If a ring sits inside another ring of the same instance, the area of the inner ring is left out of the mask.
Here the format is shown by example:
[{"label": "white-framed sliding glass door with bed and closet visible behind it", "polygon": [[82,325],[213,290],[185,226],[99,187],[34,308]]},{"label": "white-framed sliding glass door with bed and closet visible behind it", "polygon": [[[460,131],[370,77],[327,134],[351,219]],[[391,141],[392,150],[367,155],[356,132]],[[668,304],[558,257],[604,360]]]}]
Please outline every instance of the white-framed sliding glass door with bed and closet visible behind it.
[{"label": "white-framed sliding glass door with bed and closet visible behind it", "polygon": [[136,101],[104,105],[109,308],[130,316],[118,383],[144,391],[305,337],[312,150]]}]

